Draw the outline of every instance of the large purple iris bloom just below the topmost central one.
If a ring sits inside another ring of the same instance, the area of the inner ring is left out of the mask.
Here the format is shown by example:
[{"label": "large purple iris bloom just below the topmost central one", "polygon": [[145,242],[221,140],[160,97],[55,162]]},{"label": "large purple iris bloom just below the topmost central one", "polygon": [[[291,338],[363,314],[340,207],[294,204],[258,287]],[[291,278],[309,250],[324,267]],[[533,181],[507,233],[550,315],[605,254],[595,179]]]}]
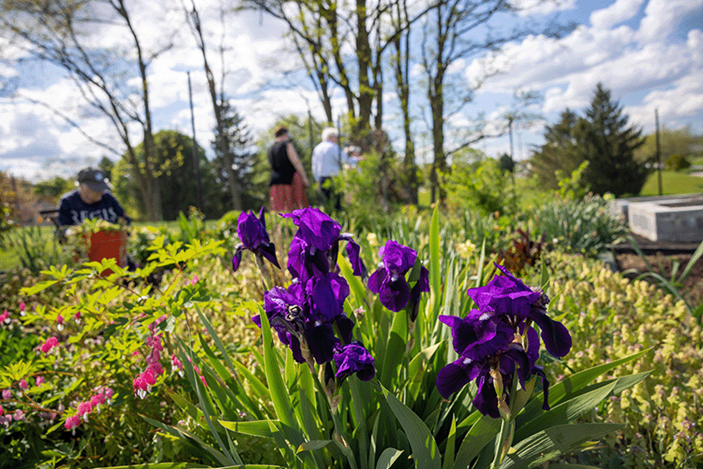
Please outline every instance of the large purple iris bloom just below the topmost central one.
[{"label": "large purple iris bloom just below the topmost central one", "polygon": [[[281,342],[298,363],[327,363],[334,347],[352,339],[354,323],[343,310],[349,295],[344,278],[329,273],[293,283],[288,289],[275,287],[264,293],[264,310]],[[252,318],[261,327],[261,318]],[[335,326],[340,338],[335,335]]]}]

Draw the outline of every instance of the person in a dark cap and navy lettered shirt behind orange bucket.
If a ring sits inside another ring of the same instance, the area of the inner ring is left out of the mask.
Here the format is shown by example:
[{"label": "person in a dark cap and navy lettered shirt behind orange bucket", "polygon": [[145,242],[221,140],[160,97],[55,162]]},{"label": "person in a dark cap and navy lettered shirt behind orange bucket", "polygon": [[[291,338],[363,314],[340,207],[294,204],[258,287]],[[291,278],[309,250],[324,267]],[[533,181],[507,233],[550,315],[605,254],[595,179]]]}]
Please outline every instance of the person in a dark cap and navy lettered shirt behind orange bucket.
[{"label": "person in a dark cap and navy lettered shirt behind orange bucket", "polygon": [[102,218],[110,223],[130,218],[113,196],[110,181],[99,169],[85,168],[76,178],[78,189],[61,196],[59,201],[59,224],[61,226],[80,225],[86,220]]}]

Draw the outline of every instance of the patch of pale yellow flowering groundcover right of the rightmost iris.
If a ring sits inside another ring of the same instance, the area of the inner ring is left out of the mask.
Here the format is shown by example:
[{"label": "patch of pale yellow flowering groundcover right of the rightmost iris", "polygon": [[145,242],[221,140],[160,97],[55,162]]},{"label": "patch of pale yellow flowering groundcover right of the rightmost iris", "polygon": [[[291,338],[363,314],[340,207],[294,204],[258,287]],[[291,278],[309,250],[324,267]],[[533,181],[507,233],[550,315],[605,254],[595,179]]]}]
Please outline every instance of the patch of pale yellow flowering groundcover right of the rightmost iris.
[{"label": "patch of pale yellow flowering groundcover right of the rightmost iris", "polygon": [[608,442],[628,467],[677,467],[703,452],[703,332],[675,301],[644,281],[630,281],[601,263],[555,254],[552,314],[563,314],[573,337],[564,359],[571,370],[652,351],[615,370],[622,376],[652,370],[644,382],[599,409],[598,418],[626,424]]}]

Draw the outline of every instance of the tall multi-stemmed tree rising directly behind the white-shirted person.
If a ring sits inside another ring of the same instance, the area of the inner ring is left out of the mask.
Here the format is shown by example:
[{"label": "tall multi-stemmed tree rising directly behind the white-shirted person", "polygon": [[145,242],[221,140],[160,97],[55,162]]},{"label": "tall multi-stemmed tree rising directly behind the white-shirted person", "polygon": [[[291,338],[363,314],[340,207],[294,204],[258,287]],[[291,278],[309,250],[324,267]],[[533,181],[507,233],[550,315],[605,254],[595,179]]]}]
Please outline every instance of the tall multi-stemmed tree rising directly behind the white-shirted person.
[{"label": "tall multi-stemmed tree rising directly behind the white-shirted person", "polygon": [[396,0],[368,3],[367,0],[245,2],[287,24],[293,44],[320,95],[328,122],[334,122],[335,117],[331,88],[333,85],[341,88],[355,135],[368,133],[372,125],[381,129],[385,56],[397,37],[427,11],[419,11],[407,21],[392,22],[388,15]]}]

